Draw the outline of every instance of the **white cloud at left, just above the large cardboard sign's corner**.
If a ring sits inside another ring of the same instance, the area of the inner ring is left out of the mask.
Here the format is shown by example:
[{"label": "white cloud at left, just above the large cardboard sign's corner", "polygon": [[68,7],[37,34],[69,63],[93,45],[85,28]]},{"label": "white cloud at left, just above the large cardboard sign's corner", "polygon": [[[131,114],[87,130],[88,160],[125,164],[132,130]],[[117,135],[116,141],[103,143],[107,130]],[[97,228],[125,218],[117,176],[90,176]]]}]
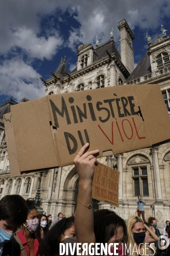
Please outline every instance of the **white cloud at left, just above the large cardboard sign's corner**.
[{"label": "white cloud at left, just above the large cardboard sign's corner", "polygon": [[22,97],[36,99],[43,97],[45,86],[40,80],[40,74],[22,59],[13,58],[0,65],[0,94],[10,95],[17,100]]}]

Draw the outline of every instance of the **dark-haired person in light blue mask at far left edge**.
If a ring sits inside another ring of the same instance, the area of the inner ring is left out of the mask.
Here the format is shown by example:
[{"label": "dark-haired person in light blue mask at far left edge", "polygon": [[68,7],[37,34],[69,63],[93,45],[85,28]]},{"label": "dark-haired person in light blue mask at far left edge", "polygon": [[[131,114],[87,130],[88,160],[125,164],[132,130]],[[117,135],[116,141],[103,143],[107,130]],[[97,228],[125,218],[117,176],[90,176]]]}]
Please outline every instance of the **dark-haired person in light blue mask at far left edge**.
[{"label": "dark-haired person in light blue mask at far left edge", "polygon": [[20,256],[14,234],[26,221],[27,212],[26,200],[20,195],[6,195],[0,200],[0,256]]}]

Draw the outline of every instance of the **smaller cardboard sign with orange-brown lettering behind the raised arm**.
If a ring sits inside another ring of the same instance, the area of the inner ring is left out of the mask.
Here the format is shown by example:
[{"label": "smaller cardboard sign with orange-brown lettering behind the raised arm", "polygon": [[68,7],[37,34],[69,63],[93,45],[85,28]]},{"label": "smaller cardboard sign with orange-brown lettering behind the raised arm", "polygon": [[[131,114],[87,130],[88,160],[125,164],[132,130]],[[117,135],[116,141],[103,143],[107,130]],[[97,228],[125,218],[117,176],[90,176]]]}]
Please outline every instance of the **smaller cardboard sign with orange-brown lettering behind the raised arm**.
[{"label": "smaller cardboard sign with orange-brown lettering behind the raised arm", "polygon": [[99,163],[94,169],[92,198],[119,207],[120,172]]}]

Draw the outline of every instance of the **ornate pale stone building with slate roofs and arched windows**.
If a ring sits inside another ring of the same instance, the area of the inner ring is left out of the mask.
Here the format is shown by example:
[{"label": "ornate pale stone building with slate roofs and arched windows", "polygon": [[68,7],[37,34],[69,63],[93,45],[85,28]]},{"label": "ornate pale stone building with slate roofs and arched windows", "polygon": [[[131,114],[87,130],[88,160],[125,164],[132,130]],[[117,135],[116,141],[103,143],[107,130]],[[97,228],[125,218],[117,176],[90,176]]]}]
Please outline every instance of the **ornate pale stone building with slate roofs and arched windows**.
[{"label": "ornate pale stone building with slate roofs and arched windows", "polygon": [[[121,84],[160,84],[167,108],[170,107],[170,37],[161,29],[162,38],[151,44],[147,35],[148,49],[134,69],[133,32],[126,20],[119,22],[121,55],[114,40],[99,45],[78,46],[77,67],[68,73],[65,58],[51,78],[43,81],[45,96],[72,91],[90,90],[100,87],[121,86]],[[5,102],[7,104],[7,102]],[[24,104],[24,103],[21,103]],[[1,108],[0,107],[0,113]],[[153,113],[154,114],[154,113]],[[155,113],[156,114],[156,113]],[[0,116],[2,118],[2,116]],[[0,195],[19,193],[24,198],[34,197],[38,184],[38,174],[10,178],[8,153],[4,141],[3,121],[0,121]],[[4,144],[3,144],[4,142]],[[144,148],[124,154],[101,157],[101,163],[117,168],[119,180],[119,208],[94,201],[94,210],[109,208],[122,218],[136,215],[137,195],[146,201],[145,217],[156,217],[162,228],[170,220],[170,143]],[[78,175],[74,165],[49,170],[42,176],[42,208],[53,218],[58,212],[67,216],[74,214],[77,204]]]}]

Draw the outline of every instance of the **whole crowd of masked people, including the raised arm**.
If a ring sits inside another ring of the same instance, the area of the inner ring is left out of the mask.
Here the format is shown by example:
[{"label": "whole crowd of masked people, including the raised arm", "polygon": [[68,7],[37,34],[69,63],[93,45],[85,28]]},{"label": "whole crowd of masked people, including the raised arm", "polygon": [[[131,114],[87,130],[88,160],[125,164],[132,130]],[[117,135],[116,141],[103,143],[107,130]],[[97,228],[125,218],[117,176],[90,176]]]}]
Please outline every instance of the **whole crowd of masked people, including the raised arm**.
[{"label": "whole crowd of masked people, including the raised arm", "polygon": [[[94,249],[95,244],[99,249],[101,244],[106,244],[110,248],[104,254],[94,250],[93,255],[170,256],[170,246],[163,247],[169,245],[169,221],[166,221],[163,233],[166,241],[162,241],[156,219],[150,217],[147,222],[144,219],[145,204],[141,195],[136,201],[138,216],[131,216],[127,221],[109,209],[93,212],[92,182],[94,166],[98,164],[95,155],[99,151],[87,151],[88,146],[86,143],[74,159],[79,175],[74,216],[66,218],[59,212],[52,221],[52,215],[38,213],[31,198],[25,201],[20,195],[6,195],[0,200],[0,256],[59,256],[60,243],[70,243],[72,247],[76,243],[92,243]],[[114,254],[115,243],[118,254]],[[79,253],[82,251],[81,247]],[[70,249],[68,255],[73,255]],[[77,255],[76,251],[74,255]]]}]

